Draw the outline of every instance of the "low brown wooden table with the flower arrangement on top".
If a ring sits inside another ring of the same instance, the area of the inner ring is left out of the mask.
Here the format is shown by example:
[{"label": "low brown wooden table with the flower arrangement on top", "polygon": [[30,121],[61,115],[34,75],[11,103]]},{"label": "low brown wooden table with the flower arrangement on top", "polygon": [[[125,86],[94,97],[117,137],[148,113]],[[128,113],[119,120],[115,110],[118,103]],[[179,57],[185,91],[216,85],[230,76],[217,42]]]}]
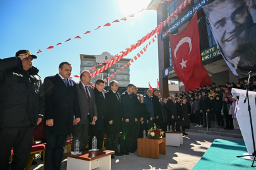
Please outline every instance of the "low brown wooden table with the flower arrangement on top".
[{"label": "low brown wooden table with the flower arrangement on top", "polygon": [[138,156],[159,159],[159,154],[166,154],[166,139],[137,139]]}]

